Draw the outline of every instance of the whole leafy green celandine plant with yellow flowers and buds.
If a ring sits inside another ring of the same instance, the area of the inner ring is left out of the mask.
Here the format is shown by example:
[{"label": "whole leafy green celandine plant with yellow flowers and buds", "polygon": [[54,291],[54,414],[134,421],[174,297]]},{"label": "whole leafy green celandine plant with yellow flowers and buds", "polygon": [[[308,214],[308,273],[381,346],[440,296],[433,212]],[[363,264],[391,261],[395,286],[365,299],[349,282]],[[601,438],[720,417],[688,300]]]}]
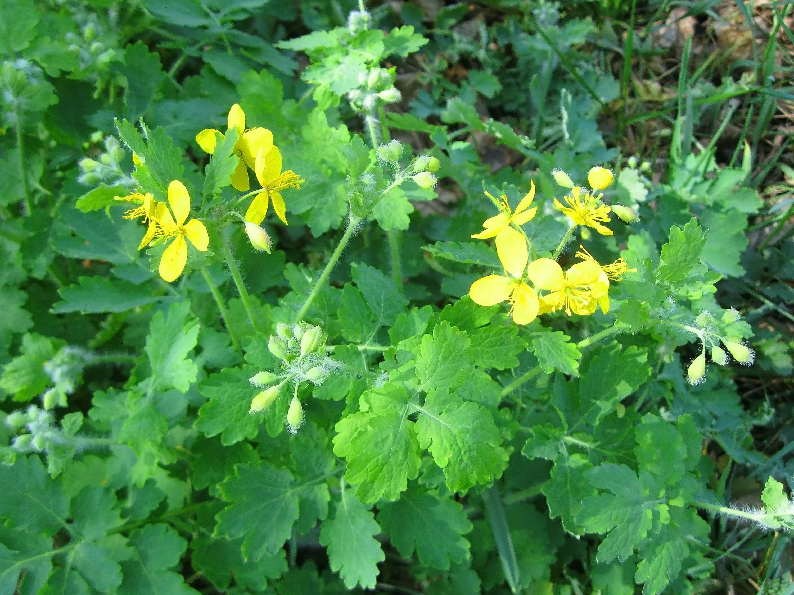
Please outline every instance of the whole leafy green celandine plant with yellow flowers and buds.
[{"label": "whole leafy green celandine plant with yellow flowers and buds", "polygon": [[[719,168],[676,128],[652,209],[626,194],[636,163],[480,117],[484,71],[440,124],[391,111],[395,64],[432,74],[412,25],[360,4],[274,48],[233,28],[264,3],[178,4],[145,6],[206,39],[168,72],[138,43],[108,74],[96,48],[71,71],[98,130],[35,156],[23,119],[71,83],[13,59],[46,65],[37,27],[60,17],[0,3],[27,23],[2,48],[25,236],[8,277],[60,296],[2,328],[0,595],[703,593],[717,535],[794,529],[730,377],[754,363],[753,328],[715,299],[739,253],[715,257],[706,228],[757,209],[734,194],[749,148]],[[304,52],[300,92],[234,44],[274,68]],[[197,48],[214,70],[179,83]],[[520,159],[491,172],[475,141]],[[41,155],[71,163],[63,199],[26,186]],[[420,213],[444,193],[453,213]],[[756,506],[726,496],[730,465],[763,470]]]}]

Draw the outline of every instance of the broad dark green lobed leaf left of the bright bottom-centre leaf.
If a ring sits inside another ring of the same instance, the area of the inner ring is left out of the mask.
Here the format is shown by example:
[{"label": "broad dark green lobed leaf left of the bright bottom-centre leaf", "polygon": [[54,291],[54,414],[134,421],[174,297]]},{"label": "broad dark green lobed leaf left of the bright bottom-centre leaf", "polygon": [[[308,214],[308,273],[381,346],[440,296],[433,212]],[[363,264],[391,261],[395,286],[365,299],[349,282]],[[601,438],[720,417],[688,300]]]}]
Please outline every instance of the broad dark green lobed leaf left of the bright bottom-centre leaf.
[{"label": "broad dark green lobed leaf left of the bright bottom-centre leaf", "polygon": [[268,463],[237,465],[235,474],[219,487],[223,499],[232,504],[218,512],[215,536],[243,538],[246,559],[276,555],[299,515],[302,487],[290,471]]}]

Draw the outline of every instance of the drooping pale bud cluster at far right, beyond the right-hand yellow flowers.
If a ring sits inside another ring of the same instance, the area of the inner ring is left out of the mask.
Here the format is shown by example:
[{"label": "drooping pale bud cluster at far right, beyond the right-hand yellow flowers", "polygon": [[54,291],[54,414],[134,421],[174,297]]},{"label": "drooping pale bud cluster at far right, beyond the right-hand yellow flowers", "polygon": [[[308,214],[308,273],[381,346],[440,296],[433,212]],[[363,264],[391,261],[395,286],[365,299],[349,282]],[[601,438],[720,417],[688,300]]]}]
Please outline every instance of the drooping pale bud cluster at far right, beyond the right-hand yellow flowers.
[{"label": "drooping pale bud cluster at far right, beyond the right-hand yellow flowers", "polygon": [[[729,360],[728,353],[733,356],[736,363],[741,363],[742,366],[751,366],[753,364],[755,353],[750,347],[742,343],[741,337],[730,334],[723,336],[720,334],[721,332],[730,333],[730,327],[740,319],[741,316],[738,311],[733,308],[726,310],[719,321],[715,320],[715,317],[707,310],[703,310],[703,312],[698,314],[696,324],[699,328],[688,328],[688,330],[695,332],[700,337],[701,344],[700,355],[692,360],[687,370],[690,384],[700,384],[706,378],[707,347],[711,349],[711,361],[718,366],[727,365]],[[723,344],[724,349],[720,347],[720,343]]]}]

